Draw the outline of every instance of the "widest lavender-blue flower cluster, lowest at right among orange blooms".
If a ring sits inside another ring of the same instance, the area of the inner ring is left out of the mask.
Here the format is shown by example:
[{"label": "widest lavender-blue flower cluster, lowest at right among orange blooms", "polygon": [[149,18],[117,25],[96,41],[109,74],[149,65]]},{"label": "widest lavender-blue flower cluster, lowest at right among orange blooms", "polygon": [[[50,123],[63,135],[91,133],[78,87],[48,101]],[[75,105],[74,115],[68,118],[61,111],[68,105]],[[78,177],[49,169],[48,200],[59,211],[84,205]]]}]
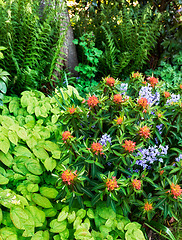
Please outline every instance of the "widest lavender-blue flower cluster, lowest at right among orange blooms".
[{"label": "widest lavender-blue flower cluster, lowest at right among orange blooms", "polygon": [[162,156],[167,155],[168,146],[155,145],[148,148],[139,149],[136,156],[140,156],[141,159],[136,160],[135,164],[143,167],[143,169],[150,168],[149,164],[154,162],[163,162]]}]

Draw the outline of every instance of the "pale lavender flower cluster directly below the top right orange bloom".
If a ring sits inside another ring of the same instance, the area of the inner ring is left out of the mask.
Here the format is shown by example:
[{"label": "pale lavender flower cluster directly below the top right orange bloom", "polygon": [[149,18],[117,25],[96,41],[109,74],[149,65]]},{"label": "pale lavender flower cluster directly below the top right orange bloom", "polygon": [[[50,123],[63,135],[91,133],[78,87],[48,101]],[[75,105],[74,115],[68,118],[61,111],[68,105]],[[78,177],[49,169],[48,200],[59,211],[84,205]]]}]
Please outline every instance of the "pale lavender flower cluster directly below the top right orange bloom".
[{"label": "pale lavender flower cluster directly below the top right orange bloom", "polygon": [[141,87],[139,97],[146,98],[150,106],[158,105],[160,101],[160,93],[155,92],[155,94],[152,94],[152,87],[150,85]]}]

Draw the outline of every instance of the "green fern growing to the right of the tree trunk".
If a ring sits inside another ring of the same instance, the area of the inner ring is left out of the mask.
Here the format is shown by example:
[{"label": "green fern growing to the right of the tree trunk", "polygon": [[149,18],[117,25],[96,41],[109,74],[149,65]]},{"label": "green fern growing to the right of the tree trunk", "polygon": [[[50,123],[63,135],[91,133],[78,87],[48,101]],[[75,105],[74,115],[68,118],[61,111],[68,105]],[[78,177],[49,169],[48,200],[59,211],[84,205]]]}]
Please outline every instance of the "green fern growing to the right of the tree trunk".
[{"label": "green fern growing to the right of the tree trunk", "polygon": [[101,11],[101,38],[104,54],[100,67],[114,77],[142,68],[159,35],[160,14],[151,6],[137,9],[118,4]]}]

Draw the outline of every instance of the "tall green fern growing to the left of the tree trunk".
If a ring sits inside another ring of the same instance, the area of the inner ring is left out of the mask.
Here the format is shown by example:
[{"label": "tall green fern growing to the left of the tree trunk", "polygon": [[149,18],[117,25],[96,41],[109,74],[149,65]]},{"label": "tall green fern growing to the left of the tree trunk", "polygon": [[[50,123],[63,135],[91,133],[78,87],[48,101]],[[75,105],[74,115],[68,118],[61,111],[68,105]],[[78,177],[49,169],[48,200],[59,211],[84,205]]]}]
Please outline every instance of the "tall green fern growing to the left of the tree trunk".
[{"label": "tall green fern growing to the left of the tree trunk", "polygon": [[[0,64],[11,73],[9,89],[40,89],[53,74],[67,29],[61,29],[64,4],[39,0],[5,0],[0,8],[0,45],[7,48]],[[0,3],[1,4],[1,3]]]}]

